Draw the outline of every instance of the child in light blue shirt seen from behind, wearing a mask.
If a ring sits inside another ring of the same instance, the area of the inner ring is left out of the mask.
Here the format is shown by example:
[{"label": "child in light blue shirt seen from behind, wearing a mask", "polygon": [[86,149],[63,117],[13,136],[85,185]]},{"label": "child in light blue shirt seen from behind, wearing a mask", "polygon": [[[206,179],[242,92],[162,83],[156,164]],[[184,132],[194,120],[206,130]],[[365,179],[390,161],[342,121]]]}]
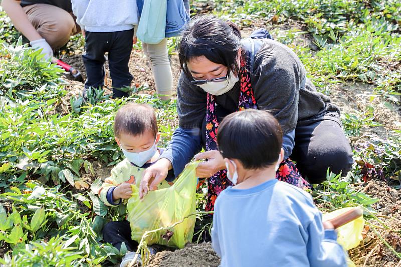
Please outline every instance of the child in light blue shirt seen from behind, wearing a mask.
[{"label": "child in light blue shirt seen from behind, wearing a mask", "polygon": [[212,246],[221,266],[346,266],[310,194],[275,179],[283,133],[266,111],[228,115],[217,142],[234,186],[217,197]]}]

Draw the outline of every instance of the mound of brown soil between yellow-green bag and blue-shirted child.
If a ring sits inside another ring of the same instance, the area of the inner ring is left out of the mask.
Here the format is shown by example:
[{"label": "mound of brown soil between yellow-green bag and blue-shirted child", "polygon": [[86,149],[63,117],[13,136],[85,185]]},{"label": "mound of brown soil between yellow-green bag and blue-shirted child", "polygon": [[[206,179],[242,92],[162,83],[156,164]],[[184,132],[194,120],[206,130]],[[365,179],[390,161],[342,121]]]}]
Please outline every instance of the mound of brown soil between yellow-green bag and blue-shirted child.
[{"label": "mound of brown soil between yellow-green bag and blue-shirted child", "polygon": [[184,249],[163,251],[150,259],[149,267],[217,267],[220,259],[213,251],[211,243],[189,243]]}]

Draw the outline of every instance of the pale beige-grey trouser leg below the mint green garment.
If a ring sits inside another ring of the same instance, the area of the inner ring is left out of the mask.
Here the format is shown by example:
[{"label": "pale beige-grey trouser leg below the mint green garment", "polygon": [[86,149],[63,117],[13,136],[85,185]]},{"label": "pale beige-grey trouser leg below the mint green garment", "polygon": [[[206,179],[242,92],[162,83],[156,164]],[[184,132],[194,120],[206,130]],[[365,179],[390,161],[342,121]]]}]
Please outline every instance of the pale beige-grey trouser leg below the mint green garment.
[{"label": "pale beige-grey trouser leg below the mint green garment", "polygon": [[172,71],[168,60],[167,38],[156,45],[142,43],[143,51],[150,62],[156,82],[157,94],[165,95],[161,99],[171,98]]}]

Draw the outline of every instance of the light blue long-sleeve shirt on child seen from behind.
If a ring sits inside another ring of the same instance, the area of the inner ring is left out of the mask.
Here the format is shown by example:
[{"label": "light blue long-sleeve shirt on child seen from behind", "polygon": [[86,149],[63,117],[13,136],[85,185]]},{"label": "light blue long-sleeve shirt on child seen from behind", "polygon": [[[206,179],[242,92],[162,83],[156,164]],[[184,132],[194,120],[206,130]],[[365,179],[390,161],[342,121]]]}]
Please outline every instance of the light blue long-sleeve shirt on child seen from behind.
[{"label": "light blue long-sleeve shirt on child seen from behind", "polygon": [[336,240],[312,197],[276,179],[229,187],[215,202],[212,246],[222,267],[346,266]]}]

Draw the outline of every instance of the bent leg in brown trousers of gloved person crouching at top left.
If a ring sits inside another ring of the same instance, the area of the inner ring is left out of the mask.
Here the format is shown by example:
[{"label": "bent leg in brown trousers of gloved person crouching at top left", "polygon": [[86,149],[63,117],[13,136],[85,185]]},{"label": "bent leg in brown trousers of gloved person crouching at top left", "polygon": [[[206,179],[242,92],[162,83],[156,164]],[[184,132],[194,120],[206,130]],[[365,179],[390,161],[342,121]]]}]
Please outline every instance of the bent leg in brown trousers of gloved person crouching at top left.
[{"label": "bent leg in brown trousers of gloved person crouching at top left", "polygon": [[52,49],[67,44],[71,35],[81,31],[67,11],[49,4],[33,4],[23,7],[29,21]]}]

